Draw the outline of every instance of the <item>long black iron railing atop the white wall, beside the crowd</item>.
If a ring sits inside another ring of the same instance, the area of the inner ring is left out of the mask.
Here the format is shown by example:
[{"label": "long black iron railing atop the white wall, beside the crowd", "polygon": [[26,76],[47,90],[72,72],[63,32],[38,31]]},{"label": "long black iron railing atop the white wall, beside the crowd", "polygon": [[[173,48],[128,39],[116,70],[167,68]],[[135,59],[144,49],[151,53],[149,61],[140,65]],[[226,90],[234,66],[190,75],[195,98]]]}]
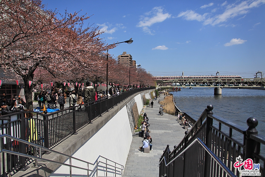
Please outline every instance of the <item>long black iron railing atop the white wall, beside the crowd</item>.
[{"label": "long black iron railing atop the white wall, beside the crowd", "polygon": [[[32,112],[35,115],[29,118],[24,117],[24,112],[0,116],[0,134],[11,135],[45,148],[53,148],[67,137],[77,134],[77,131],[82,127],[91,123],[129,96],[150,89],[153,88],[121,92],[119,95],[108,97],[108,99],[76,105],[50,114],[47,114],[47,111],[44,114]],[[0,143],[7,150],[34,155],[32,146],[21,149],[16,141],[2,141]],[[10,154],[5,155],[3,153],[0,155],[0,176],[11,173],[18,168],[24,168],[27,160],[30,159],[24,159],[23,157],[20,159],[19,156],[10,156]]]}]

